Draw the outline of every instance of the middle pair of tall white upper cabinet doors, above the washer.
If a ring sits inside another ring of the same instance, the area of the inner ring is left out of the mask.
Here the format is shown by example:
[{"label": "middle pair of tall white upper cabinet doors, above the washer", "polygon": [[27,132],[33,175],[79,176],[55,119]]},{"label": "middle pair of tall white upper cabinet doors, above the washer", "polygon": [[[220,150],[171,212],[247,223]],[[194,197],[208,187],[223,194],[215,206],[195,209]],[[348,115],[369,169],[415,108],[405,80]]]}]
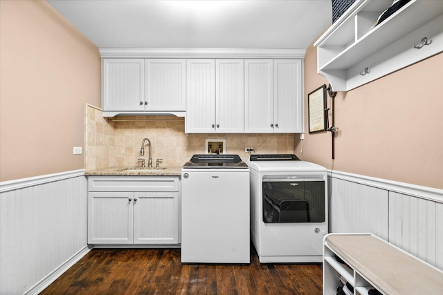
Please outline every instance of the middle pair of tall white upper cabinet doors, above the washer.
[{"label": "middle pair of tall white upper cabinet doors, above the washer", "polygon": [[243,59],[188,59],[186,133],[244,132]]}]

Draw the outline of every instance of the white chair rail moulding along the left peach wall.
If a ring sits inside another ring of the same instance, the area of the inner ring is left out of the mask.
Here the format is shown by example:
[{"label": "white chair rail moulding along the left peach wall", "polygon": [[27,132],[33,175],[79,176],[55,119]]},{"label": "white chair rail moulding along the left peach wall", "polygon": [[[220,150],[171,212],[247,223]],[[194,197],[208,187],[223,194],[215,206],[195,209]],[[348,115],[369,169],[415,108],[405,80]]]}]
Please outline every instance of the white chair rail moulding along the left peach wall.
[{"label": "white chair rail moulding along the left peach wall", "polygon": [[21,178],[17,180],[9,180],[0,182],[0,193],[5,191],[12,191],[14,189],[23,189],[24,187],[33,187],[37,184],[44,184],[54,182],[57,180],[64,180],[67,178],[74,178],[84,175],[85,169],[78,169],[72,171],[64,171],[60,173],[39,175],[31,178]]}]

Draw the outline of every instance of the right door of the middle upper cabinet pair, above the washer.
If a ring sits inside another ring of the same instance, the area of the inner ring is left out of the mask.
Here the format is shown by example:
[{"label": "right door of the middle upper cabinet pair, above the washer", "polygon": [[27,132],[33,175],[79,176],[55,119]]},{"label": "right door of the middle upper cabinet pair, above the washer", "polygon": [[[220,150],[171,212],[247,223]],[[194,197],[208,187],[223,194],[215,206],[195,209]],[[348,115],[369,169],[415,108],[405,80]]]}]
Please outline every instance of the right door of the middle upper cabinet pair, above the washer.
[{"label": "right door of the middle upper cabinet pair, above the washer", "polygon": [[215,132],[244,132],[244,61],[215,61]]}]

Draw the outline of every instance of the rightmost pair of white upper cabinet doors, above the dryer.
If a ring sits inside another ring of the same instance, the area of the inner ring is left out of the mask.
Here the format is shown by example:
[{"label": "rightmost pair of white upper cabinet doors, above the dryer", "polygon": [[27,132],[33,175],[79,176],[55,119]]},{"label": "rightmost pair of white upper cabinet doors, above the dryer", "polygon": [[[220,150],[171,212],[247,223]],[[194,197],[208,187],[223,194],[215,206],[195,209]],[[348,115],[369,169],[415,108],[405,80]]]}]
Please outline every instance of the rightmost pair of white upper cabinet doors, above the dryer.
[{"label": "rightmost pair of white upper cabinet doors, above the dryer", "polygon": [[302,132],[302,61],[246,59],[245,132]]}]

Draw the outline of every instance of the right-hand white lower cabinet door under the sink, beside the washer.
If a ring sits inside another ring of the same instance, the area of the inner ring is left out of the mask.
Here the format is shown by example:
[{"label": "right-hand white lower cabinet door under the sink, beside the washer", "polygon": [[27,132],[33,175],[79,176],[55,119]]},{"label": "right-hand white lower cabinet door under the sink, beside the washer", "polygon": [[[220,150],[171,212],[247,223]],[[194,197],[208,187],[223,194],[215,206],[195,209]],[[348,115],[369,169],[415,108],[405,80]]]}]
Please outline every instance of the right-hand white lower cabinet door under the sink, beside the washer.
[{"label": "right-hand white lower cabinet door under the sink, beside the washer", "polygon": [[134,193],[134,244],[179,242],[179,193]]}]

